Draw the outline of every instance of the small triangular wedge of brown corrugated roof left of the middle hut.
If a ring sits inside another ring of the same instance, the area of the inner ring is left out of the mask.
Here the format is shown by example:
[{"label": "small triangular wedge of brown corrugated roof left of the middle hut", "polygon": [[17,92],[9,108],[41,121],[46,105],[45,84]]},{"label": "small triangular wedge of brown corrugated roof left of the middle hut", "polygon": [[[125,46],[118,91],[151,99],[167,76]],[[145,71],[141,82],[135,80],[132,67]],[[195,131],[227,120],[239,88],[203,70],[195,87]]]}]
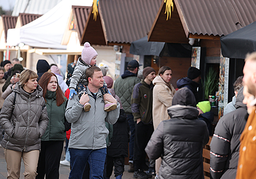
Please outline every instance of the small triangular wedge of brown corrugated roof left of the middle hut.
[{"label": "small triangular wedge of brown corrugated roof left of the middle hut", "polygon": [[75,6],[72,5],[74,17],[76,20],[76,30],[78,33],[78,38],[81,41],[83,35],[83,29],[86,27],[86,21],[88,20],[90,14],[90,8],[87,6]]}]

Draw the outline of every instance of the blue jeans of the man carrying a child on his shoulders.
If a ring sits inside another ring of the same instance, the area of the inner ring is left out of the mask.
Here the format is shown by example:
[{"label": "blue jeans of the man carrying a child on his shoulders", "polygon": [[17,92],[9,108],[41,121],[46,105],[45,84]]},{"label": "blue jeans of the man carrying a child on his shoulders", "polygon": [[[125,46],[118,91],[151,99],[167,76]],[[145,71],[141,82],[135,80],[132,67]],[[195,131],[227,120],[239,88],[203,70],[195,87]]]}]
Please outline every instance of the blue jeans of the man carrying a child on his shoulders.
[{"label": "blue jeans of the man carrying a child on his shoulders", "polygon": [[69,149],[71,171],[69,179],[81,179],[86,168],[87,161],[90,165],[90,179],[103,179],[103,170],[107,154],[107,149]]}]

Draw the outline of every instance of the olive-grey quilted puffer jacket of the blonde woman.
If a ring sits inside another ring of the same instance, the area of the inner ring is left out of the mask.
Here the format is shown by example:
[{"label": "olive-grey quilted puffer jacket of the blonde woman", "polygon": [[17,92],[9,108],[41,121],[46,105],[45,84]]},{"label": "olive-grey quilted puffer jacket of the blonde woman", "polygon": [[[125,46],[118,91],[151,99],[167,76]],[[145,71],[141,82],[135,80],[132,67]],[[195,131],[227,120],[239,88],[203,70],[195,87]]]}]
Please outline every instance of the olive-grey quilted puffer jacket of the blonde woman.
[{"label": "olive-grey quilted puffer jacket of the blonde woman", "polygon": [[[13,110],[15,92],[17,95]],[[34,92],[28,94],[16,85],[14,92],[4,101],[0,124],[5,130],[1,143],[5,149],[20,152],[40,150],[40,137],[45,133],[48,124],[42,88],[38,85]]]}]

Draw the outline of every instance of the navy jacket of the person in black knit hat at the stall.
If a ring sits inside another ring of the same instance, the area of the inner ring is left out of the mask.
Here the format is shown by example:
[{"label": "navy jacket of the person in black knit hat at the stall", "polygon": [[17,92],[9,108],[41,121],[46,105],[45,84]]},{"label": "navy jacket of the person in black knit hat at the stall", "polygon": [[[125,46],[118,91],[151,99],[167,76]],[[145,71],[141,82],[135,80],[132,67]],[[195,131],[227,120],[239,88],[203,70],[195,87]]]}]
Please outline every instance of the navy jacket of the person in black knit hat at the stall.
[{"label": "navy jacket of the person in black knit hat at the stall", "polygon": [[199,96],[198,96],[198,91],[197,88],[199,87],[199,83],[192,81],[192,79],[185,77],[185,78],[181,78],[177,81],[177,87],[180,88],[184,88],[187,87],[188,89],[190,89],[193,94],[194,97],[196,98],[196,102],[199,102]]}]

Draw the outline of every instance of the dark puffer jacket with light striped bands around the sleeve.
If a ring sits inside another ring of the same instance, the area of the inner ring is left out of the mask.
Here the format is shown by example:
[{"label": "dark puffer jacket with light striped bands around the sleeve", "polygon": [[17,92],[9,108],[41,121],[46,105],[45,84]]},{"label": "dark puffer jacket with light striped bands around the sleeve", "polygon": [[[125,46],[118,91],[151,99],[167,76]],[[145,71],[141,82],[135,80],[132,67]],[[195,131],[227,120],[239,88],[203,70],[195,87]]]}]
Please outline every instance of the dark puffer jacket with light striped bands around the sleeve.
[{"label": "dark puffer jacket with light striped bands around the sleeve", "polygon": [[211,177],[235,178],[239,158],[240,136],[248,118],[246,104],[243,104],[243,87],[239,90],[233,112],[225,114],[215,128],[211,140]]}]

